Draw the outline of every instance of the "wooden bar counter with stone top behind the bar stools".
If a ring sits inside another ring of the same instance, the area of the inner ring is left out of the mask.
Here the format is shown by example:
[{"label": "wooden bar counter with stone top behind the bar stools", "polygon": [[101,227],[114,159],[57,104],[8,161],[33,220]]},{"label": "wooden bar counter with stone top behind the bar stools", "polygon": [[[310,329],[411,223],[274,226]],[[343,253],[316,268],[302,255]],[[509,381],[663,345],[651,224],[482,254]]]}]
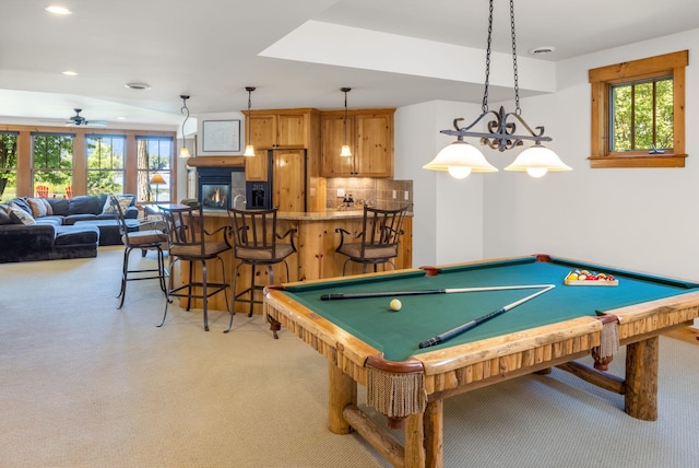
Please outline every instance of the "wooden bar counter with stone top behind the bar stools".
[{"label": "wooden bar counter with stone top behind the bar stools", "polygon": [[[315,212],[279,212],[276,218],[276,231],[284,234],[289,229],[296,229],[294,244],[298,250],[287,258],[289,278],[288,281],[318,280],[342,276],[342,267],[346,257],[335,253],[340,244],[340,234],[335,229],[342,227],[353,235],[362,232],[363,210],[328,210]],[[221,226],[229,225],[228,213],[225,210],[204,210],[204,227],[208,232],[214,232]],[[413,266],[413,214],[408,213],[403,222],[403,236],[401,237],[399,256],[393,260],[396,269],[411,268]],[[230,239],[233,243],[233,241]],[[284,239],[287,242],[287,239]],[[233,253],[223,255],[226,265],[226,280],[233,284],[233,273],[238,261],[233,257]],[[379,266],[379,271],[384,266]],[[390,265],[386,266],[391,269]],[[182,268],[186,270],[186,268]],[[221,281],[221,268],[211,262],[209,267],[209,281]],[[370,270],[369,270],[370,271]],[[286,271],[284,264],[273,267],[274,282],[286,282]],[[180,274],[187,274],[181,271]],[[197,272],[196,272],[197,273]],[[362,265],[348,262],[346,274],[362,273]],[[269,284],[266,268],[258,268],[256,282],[258,284]],[[175,274],[174,278],[178,278]],[[250,284],[250,267],[241,267],[238,270],[237,290],[244,291]],[[230,294],[229,300],[230,300]],[[193,307],[200,308],[201,303]],[[236,305],[236,312],[247,313],[247,304]],[[223,294],[217,294],[210,299],[210,309],[225,311],[227,306]],[[256,314],[262,313],[262,306],[256,304]]]}]

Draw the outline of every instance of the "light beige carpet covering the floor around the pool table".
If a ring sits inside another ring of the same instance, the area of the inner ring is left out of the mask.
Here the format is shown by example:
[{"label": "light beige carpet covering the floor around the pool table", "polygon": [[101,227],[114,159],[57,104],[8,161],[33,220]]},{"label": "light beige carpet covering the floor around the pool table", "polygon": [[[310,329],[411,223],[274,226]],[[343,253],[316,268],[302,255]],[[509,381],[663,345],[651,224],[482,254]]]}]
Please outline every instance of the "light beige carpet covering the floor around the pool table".
[{"label": "light beige carpet covering the floor around the pool table", "polygon": [[[388,466],[327,430],[327,362],[292,334],[177,306],[156,328],[154,281],[117,311],[121,254],[0,265],[0,467]],[[566,373],[522,377],[447,400],[445,463],[699,466],[699,347],[661,339],[659,403],[643,422]]]}]

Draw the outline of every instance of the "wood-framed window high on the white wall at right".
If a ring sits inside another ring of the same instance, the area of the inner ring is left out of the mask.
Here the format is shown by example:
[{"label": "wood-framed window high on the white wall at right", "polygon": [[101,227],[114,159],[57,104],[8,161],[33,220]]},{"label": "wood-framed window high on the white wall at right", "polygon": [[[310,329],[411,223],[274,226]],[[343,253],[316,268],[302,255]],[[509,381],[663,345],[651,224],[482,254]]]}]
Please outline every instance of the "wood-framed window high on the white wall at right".
[{"label": "wood-framed window high on the white wall at right", "polygon": [[590,70],[591,167],[685,166],[687,50]]}]

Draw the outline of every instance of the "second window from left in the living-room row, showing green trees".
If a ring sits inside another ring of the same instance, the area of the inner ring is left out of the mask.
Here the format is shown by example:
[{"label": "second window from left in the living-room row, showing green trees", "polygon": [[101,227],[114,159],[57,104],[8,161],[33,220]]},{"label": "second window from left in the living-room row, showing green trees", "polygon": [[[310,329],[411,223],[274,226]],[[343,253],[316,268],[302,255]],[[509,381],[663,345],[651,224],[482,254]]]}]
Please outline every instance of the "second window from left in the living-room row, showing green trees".
[{"label": "second window from left in the living-room row, showing green trees", "polygon": [[33,133],[34,192],[42,197],[72,196],[73,134]]}]

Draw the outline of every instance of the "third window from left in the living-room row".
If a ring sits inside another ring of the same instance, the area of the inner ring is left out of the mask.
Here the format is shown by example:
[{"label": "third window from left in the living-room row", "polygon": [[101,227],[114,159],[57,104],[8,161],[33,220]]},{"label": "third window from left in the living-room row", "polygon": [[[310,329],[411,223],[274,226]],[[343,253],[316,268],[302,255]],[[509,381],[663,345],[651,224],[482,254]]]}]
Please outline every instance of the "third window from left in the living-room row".
[{"label": "third window from left in the living-room row", "polygon": [[87,195],[123,194],[126,137],[87,134]]}]

